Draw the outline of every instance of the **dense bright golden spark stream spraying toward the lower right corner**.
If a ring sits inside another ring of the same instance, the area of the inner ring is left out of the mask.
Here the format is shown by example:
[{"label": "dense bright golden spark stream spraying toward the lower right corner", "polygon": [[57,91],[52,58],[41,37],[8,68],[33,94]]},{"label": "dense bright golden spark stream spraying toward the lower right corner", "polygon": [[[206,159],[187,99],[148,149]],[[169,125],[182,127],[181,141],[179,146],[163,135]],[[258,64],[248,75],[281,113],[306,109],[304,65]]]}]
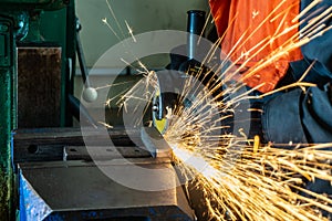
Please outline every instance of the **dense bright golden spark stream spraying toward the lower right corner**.
[{"label": "dense bright golden spark stream spraying toward the lower right corner", "polygon": [[[209,214],[218,220],[322,220],[319,209],[332,211],[328,196],[308,191],[310,198],[297,191],[302,190],[305,179],[331,181],[331,166],[326,161],[331,151],[319,147],[284,150],[267,146],[255,154],[251,146],[241,146],[241,157],[227,167],[229,159],[222,155],[211,151],[208,156],[197,149],[174,144],[178,164],[187,176],[195,177]],[[181,160],[188,156],[194,159]]]}]

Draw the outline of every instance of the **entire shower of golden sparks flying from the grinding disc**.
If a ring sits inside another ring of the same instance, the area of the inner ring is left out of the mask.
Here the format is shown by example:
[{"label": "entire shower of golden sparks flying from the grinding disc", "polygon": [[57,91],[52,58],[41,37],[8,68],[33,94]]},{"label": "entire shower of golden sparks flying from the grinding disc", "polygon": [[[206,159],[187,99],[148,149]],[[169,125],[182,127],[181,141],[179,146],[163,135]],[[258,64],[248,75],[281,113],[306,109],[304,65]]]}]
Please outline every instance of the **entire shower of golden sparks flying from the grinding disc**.
[{"label": "entire shower of golden sparks flying from the grinding disc", "polygon": [[[273,14],[283,2],[281,1],[263,22],[273,21],[277,17],[289,15],[288,10],[277,15]],[[309,9],[320,2],[320,0],[313,1],[293,21],[302,18],[303,21],[308,21],[305,18],[310,18],[310,14],[307,14]],[[258,62],[241,78],[258,73],[271,62],[331,30],[331,27],[323,25],[323,22],[331,18],[331,10],[332,8],[325,9],[320,15],[309,20],[299,34],[284,42],[266,60]],[[258,12],[255,15],[258,15]],[[106,20],[105,23],[107,24]],[[277,29],[272,36],[247,50],[243,56],[249,62],[273,41],[292,30],[298,30],[300,24],[293,23],[287,30]],[[127,23],[126,25],[133,35]],[[208,82],[204,88],[198,78],[207,73],[200,69],[201,66],[194,74],[179,74],[184,86],[177,104],[168,108],[166,117],[168,125],[164,138],[173,148],[174,161],[183,176],[203,192],[207,215],[210,219],[328,220],[326,217],[323,217],[322,210],[332,213],[331,197],[307,190],[305,183],[315,179],[332,183],[332,151],[328,150],[332,148],[332,144],[292,148],[292,144],[287,144],[284,146],[289,148],[273,148],[271,145],[258,145],[257,137],[255,141],[248,139],[243,128],[227,133],[229,125],[226,122],[232,119],[237,112],[252,110],[241,109],[241,103],[253,98],[249,96],[251,91],[241,93],[243,86],[241,81],[237,83],[231,81],[237,76],[239,70],[247,66],[247,62],[235,66],[242,57],[232,61],[231,64],[227,61],[261,27],[262,24],[258,25],[249,36],[245,32],[230,53],[226,55],[221,65],[214,66],[208,71],[211,76],[211,73],[219,73],[226,67],[221,75],[212,74],[214,82]],[[216,48],[221,39],[217,41]],[[207,54],[207,66],[216,48],[210,50],[210,54]],[[160,93],[156,73],[148,71],[143,63],[138,62],[138,64],[144,70],[142,72],[144,77],[123,94],[118,102],[118,105],[129,113],[138,112],[141,105],[144,106],[144,113],[149,112],[152,101]],[[304,90],[305,86],[313,86],[313,84],[299,81],[287,87],[290,86],[300,86]],[[215,92],[219,91],[221,92],[216,95]],[[276,93],[276,91],[271,93]],[[133,109],[128,110],[128,108]],[[261,109],[256,110],[261,112]],[[143,120],[141,112],[134,124],[142,124]],[[246,123],[250,119],[237,120],[239,122],[235,122],[235,124]],[[252,143],[255,144],[252,145]]]}]

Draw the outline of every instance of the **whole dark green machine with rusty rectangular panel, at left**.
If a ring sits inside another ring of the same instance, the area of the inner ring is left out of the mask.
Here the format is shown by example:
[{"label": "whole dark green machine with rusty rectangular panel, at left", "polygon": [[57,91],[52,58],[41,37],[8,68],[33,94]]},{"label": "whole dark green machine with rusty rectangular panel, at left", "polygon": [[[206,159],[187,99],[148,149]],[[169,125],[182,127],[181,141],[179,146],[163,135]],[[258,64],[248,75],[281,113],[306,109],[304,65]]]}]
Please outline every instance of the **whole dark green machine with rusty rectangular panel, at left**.
[{"label": "whole dark green machine with rusty rectangular panel, at left", "polygon": [[72,124],[75,25],[74,1],[0,0],[0,220],[17,209],[11,131]]}]

